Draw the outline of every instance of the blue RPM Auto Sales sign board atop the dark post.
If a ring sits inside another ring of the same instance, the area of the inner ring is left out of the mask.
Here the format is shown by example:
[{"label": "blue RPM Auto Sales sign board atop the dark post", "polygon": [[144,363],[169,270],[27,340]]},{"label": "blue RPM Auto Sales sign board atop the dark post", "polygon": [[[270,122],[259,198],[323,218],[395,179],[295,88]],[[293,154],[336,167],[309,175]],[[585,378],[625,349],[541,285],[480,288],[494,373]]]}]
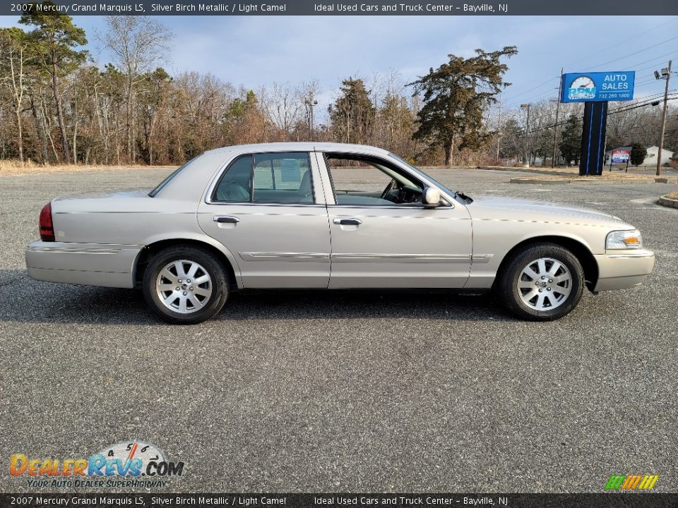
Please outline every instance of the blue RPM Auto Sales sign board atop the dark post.
[{"label": "blue RPM Auto Sales sign board atop the dark post", "polygon": [[563,74],[560,102],[631,100],[635,80],[636,71]]}]

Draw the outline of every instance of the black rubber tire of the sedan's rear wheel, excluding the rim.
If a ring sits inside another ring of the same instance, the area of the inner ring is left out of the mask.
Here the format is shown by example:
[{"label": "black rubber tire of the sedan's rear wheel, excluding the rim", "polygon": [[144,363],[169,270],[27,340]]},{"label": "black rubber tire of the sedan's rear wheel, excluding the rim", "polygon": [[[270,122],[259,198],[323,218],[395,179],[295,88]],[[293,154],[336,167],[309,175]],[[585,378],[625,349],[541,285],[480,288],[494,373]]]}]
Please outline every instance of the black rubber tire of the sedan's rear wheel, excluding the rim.
[{"label": "black rubber tire of the sedan's rear wheel, excluding the rim", "polygon": [[[212,296],[208,304],[194,313],[182,314],[165,307],[155,291],[155,281],[160,270],[169,262],[191,260],[201,265],[212,279]],[[191,246],[177,246],[161,250],[148,262],[143,274],[143,296],[153,312],[172,324],[194,325],[210,319],[224,306],[229,294],[227,277],[223,265],[207,250]]]}]

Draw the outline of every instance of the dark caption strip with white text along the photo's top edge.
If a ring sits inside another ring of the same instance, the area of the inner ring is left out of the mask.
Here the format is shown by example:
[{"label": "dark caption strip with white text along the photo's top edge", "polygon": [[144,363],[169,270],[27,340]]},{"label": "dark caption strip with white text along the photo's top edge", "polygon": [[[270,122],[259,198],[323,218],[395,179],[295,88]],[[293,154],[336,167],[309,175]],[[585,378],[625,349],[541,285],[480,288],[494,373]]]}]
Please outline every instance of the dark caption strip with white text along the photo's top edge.
[{"label": "dark caption strip with white text along the photo's top edge", "polygon": [[[676,0],[587,0],[564,2],[506,0],[463,3],[456,0],[327,1],[268,0],[237,3],[220,0],[54,0],[49,4],[1,2],[0,15],[23,12],[62,13],[69,16],[110,14],[153,16],[676,16]],[[614,32],[608,22],[601,30]]]}]

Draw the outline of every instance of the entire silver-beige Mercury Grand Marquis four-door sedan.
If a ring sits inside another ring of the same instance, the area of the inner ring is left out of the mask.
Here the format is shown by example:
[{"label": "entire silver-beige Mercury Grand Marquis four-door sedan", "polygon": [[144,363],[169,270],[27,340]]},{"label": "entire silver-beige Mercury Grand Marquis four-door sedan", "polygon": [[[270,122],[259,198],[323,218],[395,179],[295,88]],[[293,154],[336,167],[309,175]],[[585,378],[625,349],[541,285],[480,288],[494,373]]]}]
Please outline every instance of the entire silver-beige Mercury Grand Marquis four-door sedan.
[{"label": "entire silver-beige Mercury Grand Marquis four-door sedan", "polygon": [[211,150],[153,191],[55,199],[26,250],[34,279],[134,288],[197,323],[231,291],[492,289],[554,320],[590,291],[641,284],[654,254],[622,219],[455,193],[396,155],[335,143]]}]

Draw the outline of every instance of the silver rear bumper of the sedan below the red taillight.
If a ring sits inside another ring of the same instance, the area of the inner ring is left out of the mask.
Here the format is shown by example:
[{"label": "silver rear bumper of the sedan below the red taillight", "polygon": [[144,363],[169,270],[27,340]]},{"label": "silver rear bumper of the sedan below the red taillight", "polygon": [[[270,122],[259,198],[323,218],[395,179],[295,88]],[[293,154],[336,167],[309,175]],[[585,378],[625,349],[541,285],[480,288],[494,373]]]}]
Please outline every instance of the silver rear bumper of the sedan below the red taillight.
[{"label": "silver rear bumper of the sedan below the red taillight", "polygon": [[36,241],[26,247],[28,275],[36,280],[85,286],[134,287],[143,246]]}]

